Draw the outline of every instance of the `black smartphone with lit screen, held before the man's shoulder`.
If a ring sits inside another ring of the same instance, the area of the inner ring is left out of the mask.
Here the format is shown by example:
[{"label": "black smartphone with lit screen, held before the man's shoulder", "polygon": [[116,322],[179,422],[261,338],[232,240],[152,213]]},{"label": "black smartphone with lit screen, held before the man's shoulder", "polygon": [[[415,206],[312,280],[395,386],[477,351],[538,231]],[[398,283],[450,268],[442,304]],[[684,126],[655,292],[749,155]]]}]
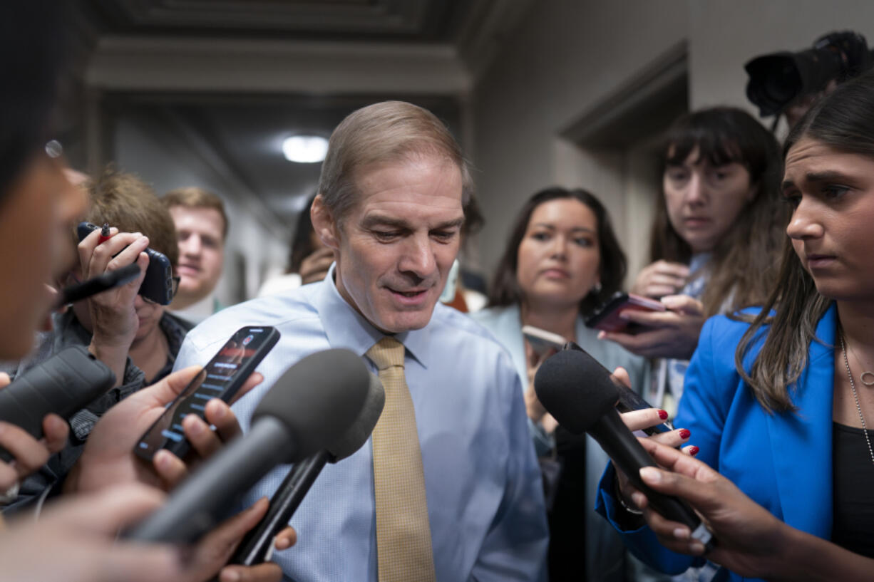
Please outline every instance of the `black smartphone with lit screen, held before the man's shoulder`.
[{"label": "black smartphone with lit screen, held before the man's shoulder", "polygon": [[162,448],[183,458],[191,447],[185,439],[182,420],[189,414],[205,416],[206,403],[212,398],[230,402],[252,375],[255,367],[279,341],[280,333],[269,326],[240,328],[218,350],[206,367],[185,386],[149,430],[137,441],[134,452],[146,461]]}]

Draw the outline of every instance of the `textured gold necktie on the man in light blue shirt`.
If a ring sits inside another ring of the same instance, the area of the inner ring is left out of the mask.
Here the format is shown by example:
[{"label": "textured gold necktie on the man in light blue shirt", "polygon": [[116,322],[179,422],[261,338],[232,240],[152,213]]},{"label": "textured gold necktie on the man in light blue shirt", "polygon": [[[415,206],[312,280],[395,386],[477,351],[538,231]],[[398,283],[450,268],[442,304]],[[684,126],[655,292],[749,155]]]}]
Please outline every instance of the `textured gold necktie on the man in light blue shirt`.
[{"label": "textured gold necktie on the man in light blue shirt", "polygon": [[384,337],[366,355],[385,387],[385,407],[373,429],[379,582],[433,582],[425,472],[404,378],[404,344]]}]

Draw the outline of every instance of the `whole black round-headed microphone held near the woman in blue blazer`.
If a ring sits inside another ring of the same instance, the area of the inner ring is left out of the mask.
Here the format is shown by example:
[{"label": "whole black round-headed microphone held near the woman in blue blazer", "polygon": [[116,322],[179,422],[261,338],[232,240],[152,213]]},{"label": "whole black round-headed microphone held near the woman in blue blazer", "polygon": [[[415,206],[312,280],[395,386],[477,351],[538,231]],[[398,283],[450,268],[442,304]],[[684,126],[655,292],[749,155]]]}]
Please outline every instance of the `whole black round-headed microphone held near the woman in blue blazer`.
[{"label": "whole black round-headed microphone held near the woman in blue blazer", "polygon": [[640,469],[657,467],[622,422],[615,405],[619,392],[609,373],[586,352],[559,351],[541,364],[534,377],[540,403],[571,433],[588,433],[662,516],[689,527],[709,551],[715,539],[697,513],[674,495],[663,495],[641,480]]}]

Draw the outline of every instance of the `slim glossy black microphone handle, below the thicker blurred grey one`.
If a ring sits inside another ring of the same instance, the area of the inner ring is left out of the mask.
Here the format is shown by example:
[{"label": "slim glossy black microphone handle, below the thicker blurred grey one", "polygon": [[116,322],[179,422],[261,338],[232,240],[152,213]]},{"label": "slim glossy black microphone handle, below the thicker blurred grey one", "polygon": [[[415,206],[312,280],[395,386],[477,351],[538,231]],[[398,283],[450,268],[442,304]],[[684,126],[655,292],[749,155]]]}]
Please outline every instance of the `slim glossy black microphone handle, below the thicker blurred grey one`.
[{"label": "slim glossy black microphone handle, below the thicker blurred grey one", "polygon": [[254,565],[267,561],[274,537],[288,525],[291,516],[303,501],[304,495],[307,495],[309,488],[329,459],[329,452],[322,449],[295,463],[270,499],[267,513],[246,534],[246,537],[243,537],[228,564]]}]

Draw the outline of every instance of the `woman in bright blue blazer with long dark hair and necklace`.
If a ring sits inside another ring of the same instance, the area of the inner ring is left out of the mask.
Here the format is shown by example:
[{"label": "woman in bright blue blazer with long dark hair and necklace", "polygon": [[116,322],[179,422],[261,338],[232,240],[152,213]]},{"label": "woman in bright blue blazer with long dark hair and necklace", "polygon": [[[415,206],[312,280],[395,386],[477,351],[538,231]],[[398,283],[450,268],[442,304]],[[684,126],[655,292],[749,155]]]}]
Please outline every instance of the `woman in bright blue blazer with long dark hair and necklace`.
[{"label": "woman in bright blue blazer with long dark hair and necklace", "polygon": [[[874,426],[874,75],[812,108],[784,158],[782,195],[794,211],[777,285],[763,309],[706,323],[676,418],[700,447],[697,458],[774,516],[874,558],[874,431],[865,430]],[[604,475],[599,511],[638,556],[683,571],[690,558],[666,548],[702,549],[649,510],[638,527],[642,518],[617,500],[633,504],[633,492],[617,491],[615,477]],[[743,516],[736,521],[742,528]],[[801,579],[788,562],[757,570],[761,557],[737,561],[719,550],[710,558],[719,552],[742,570],[732,580]],[[837,568],[840,555],[814,561],[834,559]]]}]

